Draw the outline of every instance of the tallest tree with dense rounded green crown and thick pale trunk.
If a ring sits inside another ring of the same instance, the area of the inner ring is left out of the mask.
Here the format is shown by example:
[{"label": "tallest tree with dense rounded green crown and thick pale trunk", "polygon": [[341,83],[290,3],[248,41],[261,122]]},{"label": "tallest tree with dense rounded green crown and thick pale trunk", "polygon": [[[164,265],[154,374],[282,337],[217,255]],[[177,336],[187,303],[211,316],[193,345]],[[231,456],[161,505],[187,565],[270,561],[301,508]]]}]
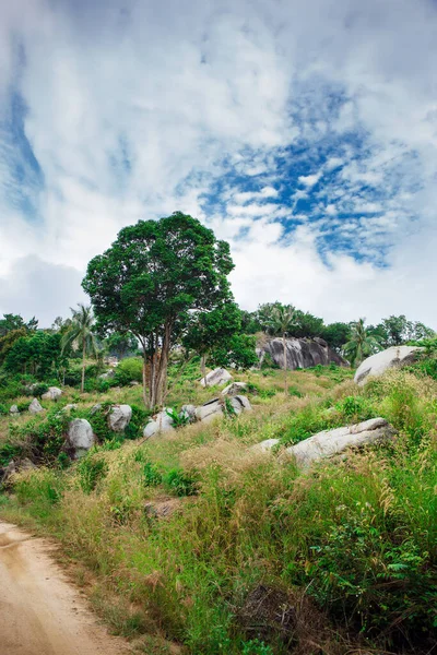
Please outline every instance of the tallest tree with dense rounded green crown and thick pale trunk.
[{"label": "tallest tree with dense rounded green crown and thick pale trunk", "polygon": [[233,267],[228,243],[181,212],[123,228],[90,262],[82,286],[99,330],[132,332],[141,344],[149,407],[162,404],[169,353],[190,312],[209,312],[233,299],[227,281]]}]

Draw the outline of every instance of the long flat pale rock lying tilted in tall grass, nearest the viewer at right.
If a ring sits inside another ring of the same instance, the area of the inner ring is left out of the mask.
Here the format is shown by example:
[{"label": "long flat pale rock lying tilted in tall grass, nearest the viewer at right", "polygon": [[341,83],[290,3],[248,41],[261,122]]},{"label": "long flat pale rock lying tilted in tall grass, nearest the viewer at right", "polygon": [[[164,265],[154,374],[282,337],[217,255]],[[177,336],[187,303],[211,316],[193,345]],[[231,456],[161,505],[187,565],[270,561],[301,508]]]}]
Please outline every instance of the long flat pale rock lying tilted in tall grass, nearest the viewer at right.
[{"label": "long flat pale rock lying tilted in tall grass, nearest the viewer at right", "polygon": [[286,452],[295,457],[299,467],[306,468],[314,462],[338,455],[347,448],[388,441],[393,434],[393,428],[385,418],[370,418],[354,426],[318,432],[287,448]]}]

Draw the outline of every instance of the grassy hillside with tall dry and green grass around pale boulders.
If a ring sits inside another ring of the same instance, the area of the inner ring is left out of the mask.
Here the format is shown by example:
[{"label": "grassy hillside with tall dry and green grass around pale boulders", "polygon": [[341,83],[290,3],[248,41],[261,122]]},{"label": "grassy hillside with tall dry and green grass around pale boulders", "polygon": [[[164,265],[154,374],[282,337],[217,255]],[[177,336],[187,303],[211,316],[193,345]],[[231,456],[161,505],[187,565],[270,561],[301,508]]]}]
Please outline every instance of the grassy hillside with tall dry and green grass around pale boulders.
[{"label": "grassy hillside with tall dry and green grass around pale boulders", "polygon": [[[168,406],[214,397],[197,376],[174,380]],[[282,376],[236,376],[250,383],[253,407],[237,418],[150,441],[102,434],[67,468],[54,456],[50,467],[15,477],[0,514],[56,537],[97,610],[139,652],[429,652],[437,382],[394,371],[361,390],[350,371],[317,368],[291,372],[285,397]],[[72,416],[96,402],[140,408],[141,390],[70,390],[62,404],[71,402]],[[42,434],[51,448],[63,425],[54,418],[59,403],[45,406],[44,417],[0,417],[3,454]],[[394,443],[307,473],[284,456],[283,446],[319,430],[375,416],[392,422]],[[250,450],[269,438],[283,445]]]}]

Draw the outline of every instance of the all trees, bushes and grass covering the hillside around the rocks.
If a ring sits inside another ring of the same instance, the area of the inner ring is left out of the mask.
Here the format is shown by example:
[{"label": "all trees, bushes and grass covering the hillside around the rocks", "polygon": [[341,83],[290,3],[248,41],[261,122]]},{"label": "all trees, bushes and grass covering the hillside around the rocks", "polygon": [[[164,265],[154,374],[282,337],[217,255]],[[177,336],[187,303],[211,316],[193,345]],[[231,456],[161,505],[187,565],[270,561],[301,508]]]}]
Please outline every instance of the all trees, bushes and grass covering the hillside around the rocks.
[{"label": "all trees, bushes and grass covering the hillside around the rocks", "polygon": [[[405,317],[326,325],[280,302],[245,312],[232,298],[232,267],[227,245],[178,213],[125,228],[92,260],[84,287],[96,324],[84,306],[50,330],[0,320],[0,479],[12,461],[19,468],[2,478],[1,517],[61,543],[96,610],[134,652],[429,655],[434,333]],[[324,338],[355,365],[400,343],[424,350],[358,388],[349,367],[282,371],[265,358],[253,368],[265,332]],[[104,355],[118,366],[104,367]],[[222,398],[222,418],[189,424],[182,405],[220,394],[199,384],[206,365],[233,367],[252,412],[237,416]],[[54,384],[62,386],[56,402],[43,397]],[[36,416],[32,397],[43,406]],[[132,409],[119,432],[108,422],[117,404]],[[176,429],[144,440],[164,404]],[[286,453],[320,430],[375,417],[393,426],[394,440],[309,471]],[[96,436],[79,461],[66,443],[73,418]],[[267,439],[277,440],[272,452],[251,449]]]}]

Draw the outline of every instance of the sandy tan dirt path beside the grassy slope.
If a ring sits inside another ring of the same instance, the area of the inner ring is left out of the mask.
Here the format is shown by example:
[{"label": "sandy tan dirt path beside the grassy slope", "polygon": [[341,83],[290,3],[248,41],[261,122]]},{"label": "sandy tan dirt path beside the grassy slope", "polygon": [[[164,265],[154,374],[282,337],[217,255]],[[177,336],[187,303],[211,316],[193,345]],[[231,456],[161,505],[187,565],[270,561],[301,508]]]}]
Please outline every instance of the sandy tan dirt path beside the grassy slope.
[{"label": "sandy tan dirt path beside the grassy slope", "polygon": [[50,557],[45,539],[0,522],[0,654],[123,655]]}]

